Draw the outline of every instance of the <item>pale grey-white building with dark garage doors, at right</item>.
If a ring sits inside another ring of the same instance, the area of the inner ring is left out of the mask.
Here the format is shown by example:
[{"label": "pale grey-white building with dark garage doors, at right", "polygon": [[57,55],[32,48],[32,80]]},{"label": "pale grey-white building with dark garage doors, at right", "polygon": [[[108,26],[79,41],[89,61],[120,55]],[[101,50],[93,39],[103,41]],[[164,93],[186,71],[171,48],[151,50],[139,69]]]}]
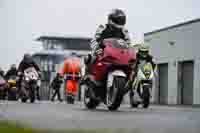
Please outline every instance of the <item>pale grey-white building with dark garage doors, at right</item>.
[{"label": "pale grey-white building with dark garage doors, at right", "polygon": [[158,68],[153,102],[200,104],[200,19],[144,34]]}]

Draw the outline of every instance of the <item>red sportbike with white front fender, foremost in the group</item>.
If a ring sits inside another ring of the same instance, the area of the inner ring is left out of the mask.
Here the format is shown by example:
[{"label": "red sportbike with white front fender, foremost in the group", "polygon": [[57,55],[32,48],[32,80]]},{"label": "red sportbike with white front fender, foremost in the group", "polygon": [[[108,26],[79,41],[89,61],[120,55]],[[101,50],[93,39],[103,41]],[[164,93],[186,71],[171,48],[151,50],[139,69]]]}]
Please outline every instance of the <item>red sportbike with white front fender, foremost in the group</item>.
[{"label": "red sportbike with white front fender, foremost in the group", "polygon": [[136,61],[136,52],[121,39],[109,38],[102,42],[103,52],[90,66],[83,78],[84,103],[89,109],[104,102],[109,110],[117,110],[127,93],[125,85]]}]

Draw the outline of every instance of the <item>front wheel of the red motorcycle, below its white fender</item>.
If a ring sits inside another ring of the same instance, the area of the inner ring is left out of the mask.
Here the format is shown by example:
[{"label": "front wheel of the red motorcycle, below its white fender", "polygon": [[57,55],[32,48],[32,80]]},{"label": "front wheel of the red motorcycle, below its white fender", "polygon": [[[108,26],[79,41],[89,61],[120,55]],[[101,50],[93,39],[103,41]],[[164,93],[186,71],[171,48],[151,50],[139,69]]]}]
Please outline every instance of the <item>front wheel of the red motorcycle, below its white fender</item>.
[{"label": "front wheel of the red motorcycle, below its white fender", "polygon": [[124,86],[126,79],[124,77],[114,77],[113,85],[107,90],[107,107],[109,110],[117,110],[124,96]]}]

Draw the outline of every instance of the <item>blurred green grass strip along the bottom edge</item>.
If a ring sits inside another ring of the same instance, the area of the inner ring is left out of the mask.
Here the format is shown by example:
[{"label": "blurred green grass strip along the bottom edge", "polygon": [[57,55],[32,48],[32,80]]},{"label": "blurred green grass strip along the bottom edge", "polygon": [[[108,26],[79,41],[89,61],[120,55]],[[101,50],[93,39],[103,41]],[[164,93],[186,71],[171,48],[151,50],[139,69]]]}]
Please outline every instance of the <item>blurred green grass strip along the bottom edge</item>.
[{"label": "blurred green grass strip along the bottom edge", "polygon": [[[33,129],[16,122],[0,121],[0,133],[127,133],[125,129],[65,129],[52,131],[48,129]],[[130,133],[140,133],[132,131]]]}]

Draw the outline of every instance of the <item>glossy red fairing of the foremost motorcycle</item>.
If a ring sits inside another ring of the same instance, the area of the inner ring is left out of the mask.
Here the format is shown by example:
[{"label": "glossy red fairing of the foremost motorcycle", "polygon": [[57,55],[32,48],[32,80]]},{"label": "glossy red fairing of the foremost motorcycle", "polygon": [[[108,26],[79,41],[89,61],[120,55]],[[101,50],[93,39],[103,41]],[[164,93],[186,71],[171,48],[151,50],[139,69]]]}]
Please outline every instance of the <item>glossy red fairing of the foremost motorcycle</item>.
[{"label": "glossy red fairing of the foremost motorcycle", "polygon": [[129,62],[136,60],[134,49],[114,47],[113,44],[116,43],[116,40],[113,39],[104,40],[103,43],[105,46],[103,54],[97,57],[96,63],[92,66],[92,74],[95,76],[95,80],[104,80],[111,67],[122,69],[126,74],[129,74]]}]

